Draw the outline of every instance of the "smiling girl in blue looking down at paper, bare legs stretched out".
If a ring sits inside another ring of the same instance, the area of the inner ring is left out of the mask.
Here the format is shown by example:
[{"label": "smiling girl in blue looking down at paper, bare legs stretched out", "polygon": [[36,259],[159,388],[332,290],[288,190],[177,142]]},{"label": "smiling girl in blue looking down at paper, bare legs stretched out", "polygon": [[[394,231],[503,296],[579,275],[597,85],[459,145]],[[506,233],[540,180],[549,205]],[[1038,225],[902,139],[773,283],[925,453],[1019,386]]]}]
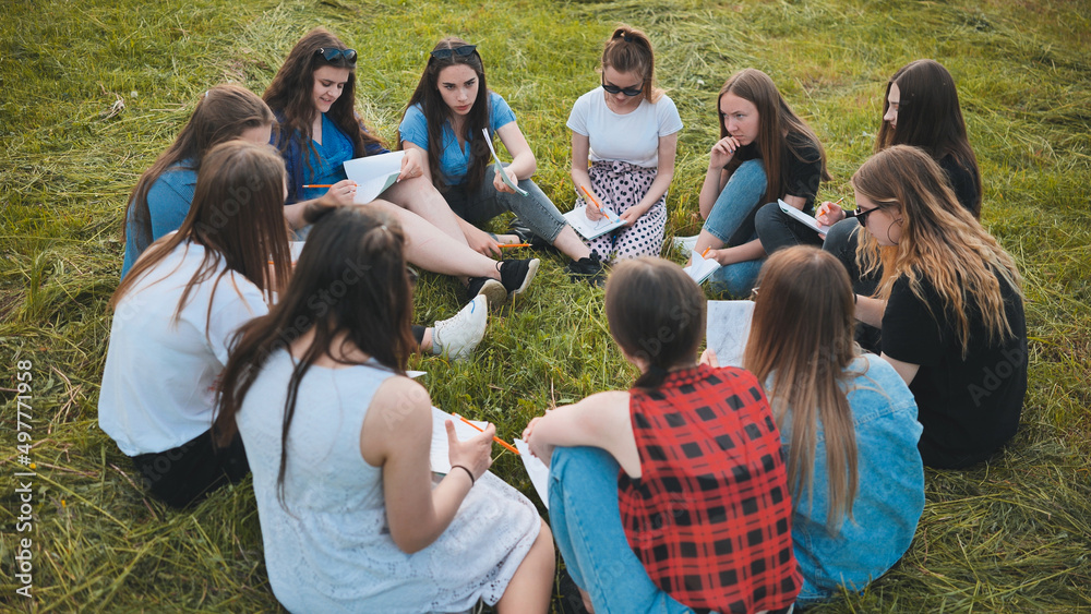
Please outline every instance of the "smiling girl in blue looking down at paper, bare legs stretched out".
[{"label": "smiling girl in blue looking down at paper, bare legs stretched out", "polygon": [[[343,162],[387,152],[353,109],[356,59],[336,36],[315,28],[296,44],[265,91],[280,124],[274,144],[288,168],[285,217],[293,228],[313,222],[331,205],[352,204],[356,185]],[[311,184],[332,186],[304,188]],[[459,277],[471,300],[485,294],[491,303],[503,302],[526,290],[538,269],[536,258],[497,263],[470,249],[458,217],[428,178],[421,152],[406,152],[398,182],[368,206],[401,224],[410,263]]]}]

